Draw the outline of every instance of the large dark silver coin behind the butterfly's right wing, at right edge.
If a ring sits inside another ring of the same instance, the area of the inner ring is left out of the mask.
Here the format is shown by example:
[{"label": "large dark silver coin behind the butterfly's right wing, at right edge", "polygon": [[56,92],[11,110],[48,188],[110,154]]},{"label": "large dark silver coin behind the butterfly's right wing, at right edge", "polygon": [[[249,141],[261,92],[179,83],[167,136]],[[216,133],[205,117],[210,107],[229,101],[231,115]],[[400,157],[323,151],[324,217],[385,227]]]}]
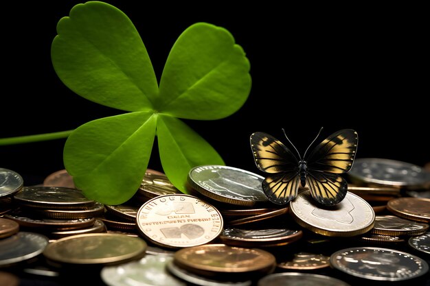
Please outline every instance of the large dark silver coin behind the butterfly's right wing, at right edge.
[{"label": "large dark silver coin behind the butterfly's right wing, at right edge", "polygon": [[359,182],[398,187],[422,187],[430,184],[430,173],[424,168],[381,158],[355,159],[348,176]]}]

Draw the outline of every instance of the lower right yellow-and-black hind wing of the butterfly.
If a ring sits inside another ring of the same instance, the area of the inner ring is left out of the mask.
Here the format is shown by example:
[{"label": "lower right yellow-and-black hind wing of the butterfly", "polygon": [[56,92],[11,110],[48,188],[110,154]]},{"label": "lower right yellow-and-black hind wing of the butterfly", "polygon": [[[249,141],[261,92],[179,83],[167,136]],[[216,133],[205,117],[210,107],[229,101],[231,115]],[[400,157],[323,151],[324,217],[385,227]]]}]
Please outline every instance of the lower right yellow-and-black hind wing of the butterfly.
[{"label": "lower right yellow-and-black hind wing of the butterfly", "polygon": [[324,173],[308,169],[306,185],[310,194],[320,204],[332,206],[345,198],[348,183],[338,174]]}]

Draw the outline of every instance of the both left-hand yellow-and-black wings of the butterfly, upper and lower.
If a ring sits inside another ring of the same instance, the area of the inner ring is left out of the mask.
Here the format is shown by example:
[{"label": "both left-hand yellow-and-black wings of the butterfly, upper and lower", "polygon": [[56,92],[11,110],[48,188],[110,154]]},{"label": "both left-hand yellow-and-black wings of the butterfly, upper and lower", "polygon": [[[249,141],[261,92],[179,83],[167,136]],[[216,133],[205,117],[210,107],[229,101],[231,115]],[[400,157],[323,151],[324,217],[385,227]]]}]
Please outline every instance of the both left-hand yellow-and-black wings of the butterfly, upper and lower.
[{"label": "both left-hand yellow-and-black wings of the butterfly, upper and lower", "polygon": [[264,132],[254,132],[250,141],[258,169],[270,174],[262,182],[267,198],[275,204],[293,200],[299,188],[296,156],[281,141]]}]

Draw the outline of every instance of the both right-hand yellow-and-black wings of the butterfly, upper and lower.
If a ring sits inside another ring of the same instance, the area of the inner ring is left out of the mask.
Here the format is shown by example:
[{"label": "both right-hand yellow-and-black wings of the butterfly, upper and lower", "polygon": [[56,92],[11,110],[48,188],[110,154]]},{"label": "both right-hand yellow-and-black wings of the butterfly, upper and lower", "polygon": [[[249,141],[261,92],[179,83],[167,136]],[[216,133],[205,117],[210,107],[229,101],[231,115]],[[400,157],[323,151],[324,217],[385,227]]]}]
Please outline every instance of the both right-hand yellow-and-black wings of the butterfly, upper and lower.
[{"label": "both right-hand yellow-and-black wings of the butterfly, upper and lower", "polygon": [[319,143],[309,156],[306,186],[320,204],[334,205],[345,198],[348,183],[339,174],[348,172],[354,163],[359,136],[351,129],[339,130]]}]

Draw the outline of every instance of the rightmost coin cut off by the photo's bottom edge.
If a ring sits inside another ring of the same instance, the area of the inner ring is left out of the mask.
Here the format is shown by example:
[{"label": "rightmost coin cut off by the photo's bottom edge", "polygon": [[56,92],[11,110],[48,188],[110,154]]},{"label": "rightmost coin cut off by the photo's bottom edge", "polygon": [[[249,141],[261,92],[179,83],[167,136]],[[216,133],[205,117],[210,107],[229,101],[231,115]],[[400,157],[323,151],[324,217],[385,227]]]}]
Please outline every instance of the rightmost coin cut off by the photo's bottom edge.
[{"label": "rightmost coin cut off by the photo's bottom edge", "polygon": [[321,285],[321,286],[348,286],[339,279],[319,274],[308,274],[299,272],[274,273],[264,276],[258,281],[257,286],[304,286],[304,285]]}]

